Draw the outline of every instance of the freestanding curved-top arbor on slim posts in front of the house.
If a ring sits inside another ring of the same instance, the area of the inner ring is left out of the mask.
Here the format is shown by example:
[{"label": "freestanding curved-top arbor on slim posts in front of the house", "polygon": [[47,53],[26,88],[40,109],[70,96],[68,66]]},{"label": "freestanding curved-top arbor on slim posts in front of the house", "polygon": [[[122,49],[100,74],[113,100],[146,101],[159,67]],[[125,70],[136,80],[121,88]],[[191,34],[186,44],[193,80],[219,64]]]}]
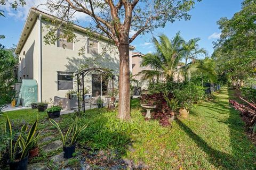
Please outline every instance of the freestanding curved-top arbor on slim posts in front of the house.
[{"label": "freestanding curved-top arbor on slim posts in front of the house", "polygon": [[84,97],[84,78],[85,76],[90,72],[99,72],[101,75],[104,75],[107,78],[107,106],[109,105],[109,92],[110,92],[110,86],[112,86],[112,93],[114,94],[114,78],[115,76],[111,73],[108,69],[102,69],[100,67],[93,67],[90,69],[85,69],[82,71],[79,71],[75,76],[77,78],[77,96],[78,96],[78,111],[81,111],[83,109],[83,112],[85,112],[85,97]]}]

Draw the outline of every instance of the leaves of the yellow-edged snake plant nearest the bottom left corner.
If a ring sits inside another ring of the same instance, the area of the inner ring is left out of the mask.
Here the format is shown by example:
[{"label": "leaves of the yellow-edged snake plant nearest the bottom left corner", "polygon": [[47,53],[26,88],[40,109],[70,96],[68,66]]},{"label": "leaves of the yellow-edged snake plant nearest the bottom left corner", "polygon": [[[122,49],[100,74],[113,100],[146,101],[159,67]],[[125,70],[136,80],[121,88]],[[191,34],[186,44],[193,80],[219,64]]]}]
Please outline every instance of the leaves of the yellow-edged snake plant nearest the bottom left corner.
[{"label": "leaves of the yellow-edged snake plant nearest the bottom left corner", "polygon": [[[9,142],[7,143],[7,145],[9,148],[8,150],[9,150],[9,156],[10,156],[11,162],[14,162],[17,159],[17,153],[20,154],[20,157],[18,158],[19,160],[22,160],[28,155],[29,149],[31,148],[31,146],[35,142],[35,139],[37,139],[39,135],[38,133],[36,133],[37,123],[38,123],[38,117],[35,123],[31,126],[28,132],[28,135],[26,137],[24,137],[23,135],[27,131],[28,126],[27,124],[23,125],[17,140],[14,142],[12,125],[7,115],[7,120],[6,120],[4,129],[5,129],[5,133],[9,137]],[[20,151],[18,151],[18,147],[20,148]]]}]

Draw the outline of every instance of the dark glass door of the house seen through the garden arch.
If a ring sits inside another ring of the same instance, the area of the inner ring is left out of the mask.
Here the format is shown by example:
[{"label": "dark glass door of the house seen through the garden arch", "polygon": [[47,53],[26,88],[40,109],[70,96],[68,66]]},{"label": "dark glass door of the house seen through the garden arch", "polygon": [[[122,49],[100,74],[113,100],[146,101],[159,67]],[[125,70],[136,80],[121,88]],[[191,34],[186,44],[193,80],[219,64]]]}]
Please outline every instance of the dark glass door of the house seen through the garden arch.
[{"label": "dark glass door of the house seen through the garden arch", "polygon": [[92,96],[99,95],[107,95],[107,83],[102,75],[92,74]]}]

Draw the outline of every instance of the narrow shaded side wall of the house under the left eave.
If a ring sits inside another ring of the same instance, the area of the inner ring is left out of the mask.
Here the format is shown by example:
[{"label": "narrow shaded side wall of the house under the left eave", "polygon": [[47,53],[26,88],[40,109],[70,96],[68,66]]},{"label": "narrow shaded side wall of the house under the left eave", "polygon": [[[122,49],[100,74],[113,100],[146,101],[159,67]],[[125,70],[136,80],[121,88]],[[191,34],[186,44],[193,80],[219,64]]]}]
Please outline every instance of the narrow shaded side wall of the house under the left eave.
[{"label": "narrow shaded side wall of the house under the left eave", "polygon": [[[33,28],[26,40],[25,45],[22,47],[19,54],[19,73],[18,79],[35,79],[38,80],[38,70],[35,67],[35,63],[38,63],[38,21],[34,23]],[[25,55],[23,55],[25,53]],[[25,68],[23,68],[23,62],[25,60]],[[25,75],[25,78],[23,77]]]}]

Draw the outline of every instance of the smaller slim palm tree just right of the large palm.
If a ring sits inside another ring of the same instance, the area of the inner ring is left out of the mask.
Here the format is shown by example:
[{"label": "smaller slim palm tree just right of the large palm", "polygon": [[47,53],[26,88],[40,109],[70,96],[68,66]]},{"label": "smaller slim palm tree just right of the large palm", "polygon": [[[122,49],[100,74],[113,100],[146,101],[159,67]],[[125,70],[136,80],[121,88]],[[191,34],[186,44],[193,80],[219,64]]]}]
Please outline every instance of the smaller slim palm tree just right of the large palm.
[{"label": "smaller slim palm tree just right of the large palm", "polygon": [[[185,66],[188,64],[188,60],[195,60],[198,55],[207,55],[207,51],[204,48],[199,48],[199,40],[201,40],[201,38],[193,38],[182,45],[183,49],[185,50]],[[186,69],[184,73],[185,81],[187,81],[187,71],[188,70]]]}]

